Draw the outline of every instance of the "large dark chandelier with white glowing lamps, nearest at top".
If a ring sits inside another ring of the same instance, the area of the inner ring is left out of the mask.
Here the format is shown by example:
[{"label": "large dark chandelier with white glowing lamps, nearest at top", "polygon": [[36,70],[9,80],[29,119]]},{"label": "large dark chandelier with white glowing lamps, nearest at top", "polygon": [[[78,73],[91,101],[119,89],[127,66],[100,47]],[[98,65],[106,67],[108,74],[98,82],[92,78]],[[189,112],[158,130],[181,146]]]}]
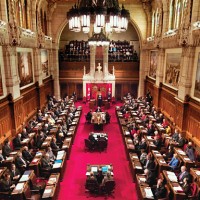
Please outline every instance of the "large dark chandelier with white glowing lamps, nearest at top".
[{"label": "large dark chandelier with white glowing lamps, nearest at top", "polygon": [[130,13],[119,7],[118,0],[80,0],[69,12],[69,29],[74,32],[98,34],[102,29],[106,33],[124,32],[128,28]]}]

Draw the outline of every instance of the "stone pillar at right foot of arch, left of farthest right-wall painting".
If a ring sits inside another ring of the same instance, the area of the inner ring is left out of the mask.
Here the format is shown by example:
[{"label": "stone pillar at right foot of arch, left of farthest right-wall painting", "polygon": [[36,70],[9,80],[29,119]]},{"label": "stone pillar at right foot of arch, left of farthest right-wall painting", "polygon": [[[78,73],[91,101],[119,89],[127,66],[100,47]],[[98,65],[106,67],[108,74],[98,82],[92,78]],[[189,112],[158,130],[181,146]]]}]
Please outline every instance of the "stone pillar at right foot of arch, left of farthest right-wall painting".
[{"label": "stone pillar at right foot of arch, left of farthest right-wall painting", "polygon": [[149,51],[142,50],[140,52],[140,72],[139,72],[139,87],[138,87],[138,96],[144,96],[145,90],[145,79],[148,75],[148,66],[149,66]]}]

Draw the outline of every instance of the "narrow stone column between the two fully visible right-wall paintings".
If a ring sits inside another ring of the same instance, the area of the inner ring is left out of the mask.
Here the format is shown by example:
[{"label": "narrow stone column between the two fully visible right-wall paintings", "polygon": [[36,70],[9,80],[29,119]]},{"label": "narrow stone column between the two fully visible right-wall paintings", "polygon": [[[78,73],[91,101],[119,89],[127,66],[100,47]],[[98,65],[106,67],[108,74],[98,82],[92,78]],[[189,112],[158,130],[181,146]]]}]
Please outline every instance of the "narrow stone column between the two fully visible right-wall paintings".
[{"label": "narrow stone column between the two fully visible right-wall paintings", "polygon": [[164,58],[165,58],[165,50],[159,49],[159,51],[158,51],[158,63],[157,63],[157,70],[156,70],[156,86],[157,87],[159,87],[160,83],[163,82]]}]

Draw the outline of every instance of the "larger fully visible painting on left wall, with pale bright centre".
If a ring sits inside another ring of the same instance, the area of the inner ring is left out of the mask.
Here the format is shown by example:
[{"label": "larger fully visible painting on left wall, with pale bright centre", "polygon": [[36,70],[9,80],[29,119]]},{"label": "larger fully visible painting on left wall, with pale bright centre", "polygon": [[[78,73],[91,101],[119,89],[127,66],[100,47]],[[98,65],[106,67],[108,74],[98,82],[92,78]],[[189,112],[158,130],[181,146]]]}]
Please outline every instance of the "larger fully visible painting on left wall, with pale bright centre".
[{"label": "larger fully visible painting on left wall, with pale bright centre", "polygon": [[18,52],[17,58],[20,87],[23,87],[33,82],[32,54],[31,52]]}]

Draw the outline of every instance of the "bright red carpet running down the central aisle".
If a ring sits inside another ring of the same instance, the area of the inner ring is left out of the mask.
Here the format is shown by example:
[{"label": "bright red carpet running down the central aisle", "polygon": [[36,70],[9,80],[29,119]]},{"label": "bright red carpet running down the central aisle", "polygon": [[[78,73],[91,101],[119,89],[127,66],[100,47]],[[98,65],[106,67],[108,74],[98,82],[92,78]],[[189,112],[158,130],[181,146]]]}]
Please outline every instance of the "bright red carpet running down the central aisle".
[{"label": "bright red carpet running down the central aisle", "polygon": [[[85,192],[86,166],[87,164],[113,164],[114,178],[116,188],[114,192],[115,200],[136,200],[136,188],[132,182],[132,176],[129,169],[129,163],[126,159],[123,140],[119,125],[115,115],[115,106],[112,106],[108,112],[111,115],[111,123],[104,125],[104,131],[108,133],[107,151],[85,152],[84,139],[88,133],[93,131],[91,124],[85,124],[84,113],[87,113],[88,105],[81,104],[83,112],[77,129],[70,159],[67,161],[63,182],[60,184],[59,200],[63,199],[105,199],[101,197],[90,197]],[[112,199],[112,197],[110,198]]]}]

